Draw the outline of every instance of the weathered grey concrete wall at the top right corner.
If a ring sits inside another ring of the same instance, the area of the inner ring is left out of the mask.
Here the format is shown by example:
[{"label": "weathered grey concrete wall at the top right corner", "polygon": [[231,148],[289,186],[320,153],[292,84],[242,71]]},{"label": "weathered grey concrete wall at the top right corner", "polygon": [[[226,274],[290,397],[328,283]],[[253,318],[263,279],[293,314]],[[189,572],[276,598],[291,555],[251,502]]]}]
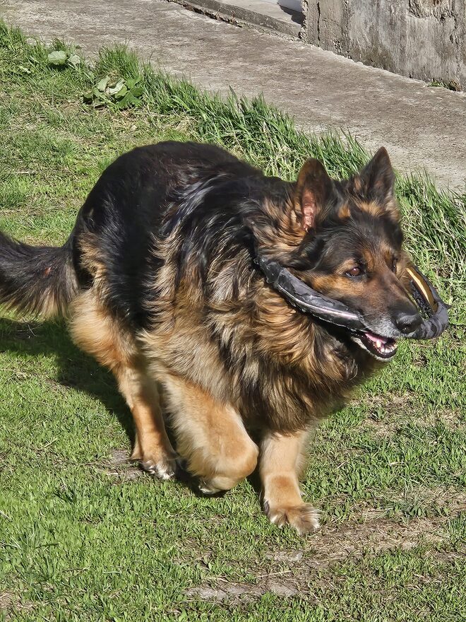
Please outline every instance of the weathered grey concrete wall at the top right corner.
[{"label": "weathered grey concrete wall at the top right corner", "polygon": [[301,0],[301,38],[336,54],[466,90],[466,0]]}]

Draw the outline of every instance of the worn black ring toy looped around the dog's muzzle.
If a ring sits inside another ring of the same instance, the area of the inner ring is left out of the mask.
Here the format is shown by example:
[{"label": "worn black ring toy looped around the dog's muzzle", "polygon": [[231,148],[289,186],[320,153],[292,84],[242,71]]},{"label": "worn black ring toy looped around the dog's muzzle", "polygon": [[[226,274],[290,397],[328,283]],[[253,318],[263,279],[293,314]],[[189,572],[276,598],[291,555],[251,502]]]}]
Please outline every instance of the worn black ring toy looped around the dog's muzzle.
[{"label": "worn black ring toy looped around the dog's muzzle", "polygon": [[[349,331],[371,331],[359,312],[338,300],[316,292],[278,262],[266,259],[262,255],[258,255],[254,261],[263,271],[266,281],[300,311]],[[448,326],[449,307],[440,298],[429,279],[416,266],[411,265],[407,268],[407,274],[410,278],[412,299],[419,307],[424,321],[414,331],[402,336],[407,339],[434,339]]]}]

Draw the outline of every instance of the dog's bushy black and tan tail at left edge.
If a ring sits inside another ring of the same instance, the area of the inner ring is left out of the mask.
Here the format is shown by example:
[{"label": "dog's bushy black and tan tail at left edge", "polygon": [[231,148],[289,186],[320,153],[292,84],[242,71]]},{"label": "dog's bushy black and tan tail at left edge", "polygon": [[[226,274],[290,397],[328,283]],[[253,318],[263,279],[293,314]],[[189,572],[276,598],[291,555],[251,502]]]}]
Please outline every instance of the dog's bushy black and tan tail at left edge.
[{"label": "dog's bushy black and tan tail at left edge", "polygon": [[0,232],[0,304],[42,317],[63,315],[78,290],[71,238],[30,246]]}]

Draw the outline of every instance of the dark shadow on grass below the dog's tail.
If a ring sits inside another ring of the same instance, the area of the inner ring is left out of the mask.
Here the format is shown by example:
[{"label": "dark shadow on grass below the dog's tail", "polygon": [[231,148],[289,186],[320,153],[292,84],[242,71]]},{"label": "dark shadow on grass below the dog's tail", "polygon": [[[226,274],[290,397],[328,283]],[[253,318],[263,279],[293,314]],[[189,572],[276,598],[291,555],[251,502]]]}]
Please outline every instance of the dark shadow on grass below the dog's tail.
[{"label": "dark shadow on grass below the dog's tail", "polygon": [[133,419],[114,377],[73,344],[64,322],[18,322],[1,318],[0,351],[17,356],[56,357],[59,373],[54,380],[99,399],[117,417],[133,445]]}]

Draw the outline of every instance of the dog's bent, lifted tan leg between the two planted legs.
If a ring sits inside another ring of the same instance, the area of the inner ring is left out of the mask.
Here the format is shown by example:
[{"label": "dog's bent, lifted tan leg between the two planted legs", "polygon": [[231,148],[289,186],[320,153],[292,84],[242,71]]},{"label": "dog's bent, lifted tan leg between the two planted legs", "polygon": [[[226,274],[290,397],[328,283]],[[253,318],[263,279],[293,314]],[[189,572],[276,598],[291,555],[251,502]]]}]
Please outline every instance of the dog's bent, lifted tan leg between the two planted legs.
[{"label": "dog's bent, lifted tan leg between the two planted legs", "polygon": [[256,469],[258,447],[232,405],[178,377],[166,377],[163,384],[177,452],[198,476],[201,492],[227,491]]}]

